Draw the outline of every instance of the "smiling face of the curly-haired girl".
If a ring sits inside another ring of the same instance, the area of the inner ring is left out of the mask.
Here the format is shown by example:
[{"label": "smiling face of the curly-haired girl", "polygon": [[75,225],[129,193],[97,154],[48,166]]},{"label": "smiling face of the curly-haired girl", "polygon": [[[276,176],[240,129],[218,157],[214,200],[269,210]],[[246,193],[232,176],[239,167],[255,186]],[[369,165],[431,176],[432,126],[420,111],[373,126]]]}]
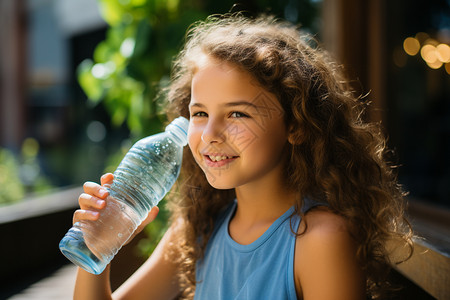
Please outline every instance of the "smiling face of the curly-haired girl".
[{"label": "smiling face of the curly-haired girl", "polygon": [[217,189],[281,176],[283,109],[247,72],[204,56],[192,79],[189,147]]}]

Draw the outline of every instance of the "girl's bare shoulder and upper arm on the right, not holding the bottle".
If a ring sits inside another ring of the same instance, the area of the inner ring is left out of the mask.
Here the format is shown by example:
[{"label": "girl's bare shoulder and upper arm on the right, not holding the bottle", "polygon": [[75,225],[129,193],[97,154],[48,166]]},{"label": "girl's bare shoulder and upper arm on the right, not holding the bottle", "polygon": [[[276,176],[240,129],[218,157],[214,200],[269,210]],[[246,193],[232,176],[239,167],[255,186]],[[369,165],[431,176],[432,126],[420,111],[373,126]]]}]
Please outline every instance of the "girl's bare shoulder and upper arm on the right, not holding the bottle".
[{"label": "girl's bare shoulder and upper arm on the right, not holding the bottle", "polygon": [[328,208],[308,212],[299,228],[294,274],[303,299],[364,299],[365,276],[347,220]]}]

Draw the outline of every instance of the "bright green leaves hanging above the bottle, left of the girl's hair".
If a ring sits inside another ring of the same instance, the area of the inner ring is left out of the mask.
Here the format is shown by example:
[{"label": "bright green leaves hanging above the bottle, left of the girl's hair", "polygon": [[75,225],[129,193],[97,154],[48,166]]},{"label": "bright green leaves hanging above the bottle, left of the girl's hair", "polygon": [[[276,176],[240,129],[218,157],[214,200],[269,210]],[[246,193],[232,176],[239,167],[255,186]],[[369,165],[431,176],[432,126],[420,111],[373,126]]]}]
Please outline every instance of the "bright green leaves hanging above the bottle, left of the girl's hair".
[{"label": "bright green leaves hanging above the bottle, left of the girl's hair", "polygon": [[93,60],[80,64],[79,83],[91,103],[103,102],[113,125],[126,122],[134,139],[162,129],[158,91],[167,82],[185,29],[205,17],[193,10],[194,2],[99,0],[110,27]]}]

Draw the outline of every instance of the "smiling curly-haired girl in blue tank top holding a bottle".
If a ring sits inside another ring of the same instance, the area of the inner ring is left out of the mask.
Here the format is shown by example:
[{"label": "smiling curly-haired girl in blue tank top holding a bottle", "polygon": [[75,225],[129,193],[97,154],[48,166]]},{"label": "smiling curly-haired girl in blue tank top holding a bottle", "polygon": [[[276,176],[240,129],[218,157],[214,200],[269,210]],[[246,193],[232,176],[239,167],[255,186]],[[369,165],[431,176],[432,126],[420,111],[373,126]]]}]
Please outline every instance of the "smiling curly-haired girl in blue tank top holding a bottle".
[{"label": "smiling curly-haired girl in blue tank top holding a bottle", "polygon": [[[269,17],[212,17],[190,30],[168,98],[190,119],[171,226],[112,296],[109,268],[79,270],[76,299],[381,295],[387,241],[411,245],[403,192],[379,128],[323,51]],[[102,186],[84,190],[74,222],[106,205]]]}]

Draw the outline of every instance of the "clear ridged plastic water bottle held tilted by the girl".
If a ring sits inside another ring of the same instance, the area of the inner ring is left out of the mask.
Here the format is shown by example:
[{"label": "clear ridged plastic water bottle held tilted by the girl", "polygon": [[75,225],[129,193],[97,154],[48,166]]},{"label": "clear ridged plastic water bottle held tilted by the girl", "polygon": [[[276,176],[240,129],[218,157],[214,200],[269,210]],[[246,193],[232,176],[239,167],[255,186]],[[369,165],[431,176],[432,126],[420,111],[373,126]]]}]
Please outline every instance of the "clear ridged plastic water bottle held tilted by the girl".
[{"label": "clear ridged plastic water bottle held tilted by the girl", "polygon": [[106,187],[109,196],[99,219],[75,223],[59,243],[70,261],[92,274],[103,272],[178,178],[188,125],[179,117],[165,132],[133,145]]}]

